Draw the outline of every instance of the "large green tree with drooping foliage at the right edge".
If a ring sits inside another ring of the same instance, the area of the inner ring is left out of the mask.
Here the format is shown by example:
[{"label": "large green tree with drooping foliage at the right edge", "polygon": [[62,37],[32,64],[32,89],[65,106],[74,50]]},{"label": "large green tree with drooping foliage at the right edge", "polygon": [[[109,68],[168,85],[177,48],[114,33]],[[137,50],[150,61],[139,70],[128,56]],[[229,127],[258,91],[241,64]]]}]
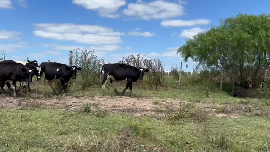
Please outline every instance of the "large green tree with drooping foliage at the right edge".
[{"label": "large green tree with drooping foliage at the right edge", "polygon": [[210,68],[221,68],[246,88],[264,81],[270,65],[270,15],[238,14],[220,20],[220,25],[197,34],[177,51]]}]

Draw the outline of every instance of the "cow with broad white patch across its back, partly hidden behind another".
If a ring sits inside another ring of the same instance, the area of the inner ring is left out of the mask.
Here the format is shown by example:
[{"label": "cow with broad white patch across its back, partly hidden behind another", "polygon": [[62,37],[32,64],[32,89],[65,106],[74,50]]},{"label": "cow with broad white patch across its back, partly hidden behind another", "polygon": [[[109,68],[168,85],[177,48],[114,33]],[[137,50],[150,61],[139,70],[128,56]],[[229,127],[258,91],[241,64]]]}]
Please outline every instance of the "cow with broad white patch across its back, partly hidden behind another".
[{"label": "cow with broad white patch across its back, partly hidden behind another", "polygon": [[[17,60],[3,60],[3,61],[0,61],[0,62],[16,62],[16,63],[20,63],[20,64],[26,66],[29,69],[29,72],[30,72],[30,77],[27,78],[26,85],[27,85],[28,91],[31,92],[31,88],[30,88],[30,84],[29,83],[32,82],[32,78],[33,78],[34,75],[37,78],[39,78],[39,74],[40,74],[40,71],[41,71],[41,68],[39,66],[37,66],[38,64],[37,64],[36,60],[34,60],[34,61],[29,61],[28,60],[28,62],[17,61]],[[6,85],[10,85],[8,83],[9,82],[7,82]],[[28,94],[27,88],[25,88],[26,94]]]}]

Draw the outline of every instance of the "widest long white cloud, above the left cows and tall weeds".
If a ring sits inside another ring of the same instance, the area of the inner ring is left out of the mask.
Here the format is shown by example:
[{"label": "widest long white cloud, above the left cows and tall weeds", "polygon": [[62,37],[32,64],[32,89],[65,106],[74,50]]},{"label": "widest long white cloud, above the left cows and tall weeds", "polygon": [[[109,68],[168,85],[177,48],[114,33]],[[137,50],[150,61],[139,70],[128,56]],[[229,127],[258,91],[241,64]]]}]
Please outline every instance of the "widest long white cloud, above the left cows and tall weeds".
[{"label": "widest long white cloud, above the left cows and tall weeds", "polygon": [[72,23],[34,24],[36,30],[33,34],[38,37],[56,39],[60,41],[74,41],[84,44],[119,44],[122,43],[122,32],[115,32],[112,28],[98,25],[77,25]]}]

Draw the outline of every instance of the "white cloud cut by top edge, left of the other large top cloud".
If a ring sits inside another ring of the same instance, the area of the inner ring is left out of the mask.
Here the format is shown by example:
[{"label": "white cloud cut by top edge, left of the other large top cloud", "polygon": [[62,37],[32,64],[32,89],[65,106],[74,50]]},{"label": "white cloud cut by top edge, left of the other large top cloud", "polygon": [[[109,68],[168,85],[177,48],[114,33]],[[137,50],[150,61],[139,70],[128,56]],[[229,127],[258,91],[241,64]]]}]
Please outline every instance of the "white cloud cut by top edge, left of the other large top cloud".
[{"label": "white cloud cut by top edge, left of the other large top cloud", "polygon": [[117,10],[126,5],[125,0],[73,0],[72,3],[86,9],[97,10],[100,16],[108,18],[119,17]]}]

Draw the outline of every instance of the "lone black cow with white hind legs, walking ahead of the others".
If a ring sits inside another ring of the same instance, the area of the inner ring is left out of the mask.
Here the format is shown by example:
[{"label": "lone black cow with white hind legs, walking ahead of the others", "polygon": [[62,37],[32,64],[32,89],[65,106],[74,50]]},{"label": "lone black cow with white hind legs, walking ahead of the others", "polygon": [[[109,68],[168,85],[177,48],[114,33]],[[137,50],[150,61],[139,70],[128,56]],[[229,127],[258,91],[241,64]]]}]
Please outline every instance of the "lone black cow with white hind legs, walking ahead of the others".
[{"label": "lone black cow with white hind legs, walking ahead of the others", "polygon": [[126,88],[123,90],[122,95],[126,92],[127,88],[130,90],[130,96],[133,97],[132,94],[132,82],[136,82],[138,79],[143,80],[144,72],[148,72],[148,69],[145,68],[136,68],[127,64],[113,63],[113,64],[104,64],[101,68],[104,69],[103,73],[103,81],[102,81],[102,94],[104,96],[104,89],[106,86],[106,82],[111,82],[111,85],[118,94],[116,90],[114,82],[127,82]]}]

